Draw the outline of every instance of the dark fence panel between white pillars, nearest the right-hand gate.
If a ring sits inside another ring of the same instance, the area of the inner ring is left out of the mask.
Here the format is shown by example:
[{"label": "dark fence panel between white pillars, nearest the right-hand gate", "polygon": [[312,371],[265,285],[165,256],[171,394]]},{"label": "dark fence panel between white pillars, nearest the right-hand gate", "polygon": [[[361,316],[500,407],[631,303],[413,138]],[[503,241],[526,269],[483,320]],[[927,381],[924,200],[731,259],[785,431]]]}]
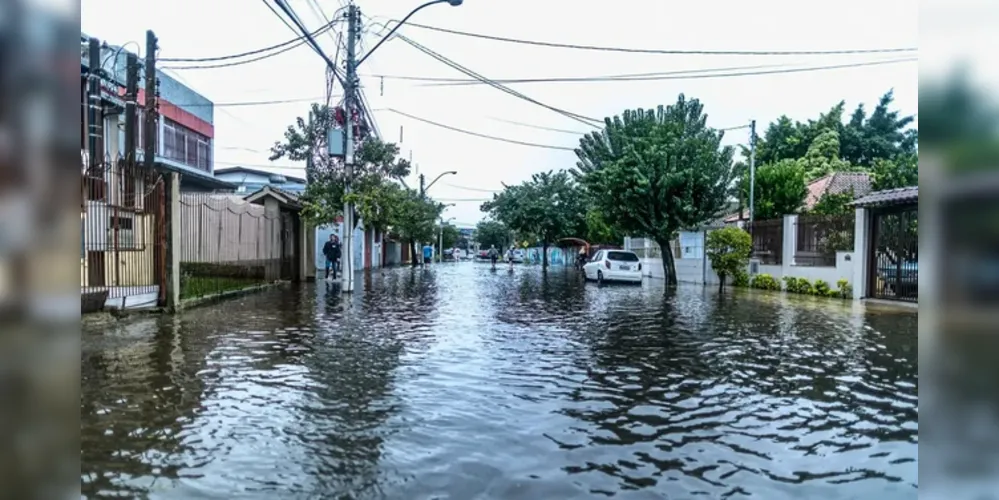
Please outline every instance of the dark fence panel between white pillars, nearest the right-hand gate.
[{"label": "dark fence panel between white pillars, nearest the right-hand gate", "polygon": [[848,215],[799,215],[795,222],[794,264],[835,267],[836,252],[853,250],[855,218]]}]

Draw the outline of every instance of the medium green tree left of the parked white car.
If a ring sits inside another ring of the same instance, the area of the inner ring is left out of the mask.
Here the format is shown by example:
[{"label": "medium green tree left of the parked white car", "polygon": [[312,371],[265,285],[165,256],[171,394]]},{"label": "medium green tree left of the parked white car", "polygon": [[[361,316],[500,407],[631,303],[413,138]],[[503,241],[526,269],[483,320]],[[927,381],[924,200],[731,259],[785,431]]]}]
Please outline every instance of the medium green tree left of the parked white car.
[{"label": "medium green tree left of the parked white car", "polygon": [[537,237],[543,249],[542,267],[548,269],[548,247],[584,227],[583,196],[570,174],[543,172],[516,186],[507,186],[482,210],[518,234]]}]

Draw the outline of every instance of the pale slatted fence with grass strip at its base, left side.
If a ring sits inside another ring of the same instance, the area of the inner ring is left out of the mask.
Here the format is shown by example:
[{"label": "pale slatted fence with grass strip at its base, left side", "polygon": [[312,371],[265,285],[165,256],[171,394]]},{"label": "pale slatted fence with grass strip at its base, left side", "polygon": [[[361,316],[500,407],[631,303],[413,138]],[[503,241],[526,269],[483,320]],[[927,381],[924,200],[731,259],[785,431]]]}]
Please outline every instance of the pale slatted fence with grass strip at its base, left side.
[{"label": "pale slatted fence with grass strip at its base, left side", "polygon": [[268,213],[238,195],[185,193],[178,222],[182,300],[291,279],[291,214]]}]

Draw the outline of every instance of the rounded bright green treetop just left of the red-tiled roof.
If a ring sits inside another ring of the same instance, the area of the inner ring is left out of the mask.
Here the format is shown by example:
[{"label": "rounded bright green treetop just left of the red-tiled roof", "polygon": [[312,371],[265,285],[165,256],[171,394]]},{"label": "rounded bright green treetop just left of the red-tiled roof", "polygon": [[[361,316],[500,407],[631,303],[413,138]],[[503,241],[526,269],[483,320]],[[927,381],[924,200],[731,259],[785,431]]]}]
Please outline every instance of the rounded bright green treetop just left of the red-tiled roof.
[{"label": "rounded bright green treetop just left of the red-tiled roof", "polygon": [[[742,192],[749,199],[749,178],[743,179]],[[796,214],[805,204],[807,196],[805,169],[800,161],[781,160],[764,165],[756,169],[756,210],[753,218],[769,220]]]}]

